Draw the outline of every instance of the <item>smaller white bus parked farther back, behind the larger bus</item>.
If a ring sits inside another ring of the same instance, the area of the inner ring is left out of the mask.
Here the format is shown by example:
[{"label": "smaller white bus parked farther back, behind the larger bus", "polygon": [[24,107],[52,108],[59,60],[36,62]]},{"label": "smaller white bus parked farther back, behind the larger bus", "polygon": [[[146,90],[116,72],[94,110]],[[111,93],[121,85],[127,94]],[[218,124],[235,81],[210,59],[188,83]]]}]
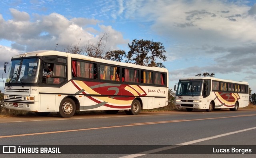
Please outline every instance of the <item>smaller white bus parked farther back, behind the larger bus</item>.
[{"label": "smaller white bus parked farther back, behind the larger bus", "polygon": [[187,111],[193,108],[206,109],[207,112],[221,108],[236,111],[238,107],[243,108],[249,104],[248,82],[212,77],[180,78],[174,90],[176,107],[186,108]]}]

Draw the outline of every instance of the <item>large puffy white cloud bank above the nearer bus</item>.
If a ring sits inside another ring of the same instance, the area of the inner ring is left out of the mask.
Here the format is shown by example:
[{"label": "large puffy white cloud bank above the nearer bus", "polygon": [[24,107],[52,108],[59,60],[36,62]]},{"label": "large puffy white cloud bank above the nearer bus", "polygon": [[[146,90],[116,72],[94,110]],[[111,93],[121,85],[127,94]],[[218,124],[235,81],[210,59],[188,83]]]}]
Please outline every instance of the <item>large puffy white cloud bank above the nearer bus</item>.
[{"label": "large puffy white cloud bank above the nearer bus", "polygon": [[[21,52],[30,52],[34,50],[56,50],[64,51],[65,48],[75,44],[85,46],[88,41],[98,41],[98,35],[104,33],[109,34],[109,48],[116,48],[118,44],[128,43],[124,40],[122,34],[110,26],[99,24],[99,20],[87,18],[72,18],[68,20],[65,16],[57,13],[51,13],[46,16],[36,15],[36,21],[24,20],[16,14],[20,13],[28,15],[26,12],[20,12],[11,9],[15,20],[5,21],[0,16],[3,24],[0,26],[0,39],[12,41],[13,48],[19,49]],[[91,26],[99,27],[99,30],[92,29]],[[87,28],[86,26],[90,26]],[[88,32],[92,31],[92,32]],[[116,38],[118,37],[118,38]],[[81,39],[81,41],[80,41]]]}]

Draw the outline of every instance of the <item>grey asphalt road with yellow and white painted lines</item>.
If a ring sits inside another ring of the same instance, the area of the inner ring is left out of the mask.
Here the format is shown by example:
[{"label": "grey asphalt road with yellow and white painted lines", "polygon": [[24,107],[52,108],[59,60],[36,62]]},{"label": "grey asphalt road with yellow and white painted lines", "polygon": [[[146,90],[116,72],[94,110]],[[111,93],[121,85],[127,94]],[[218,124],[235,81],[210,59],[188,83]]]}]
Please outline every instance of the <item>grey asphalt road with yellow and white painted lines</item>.
[{"label": "grey asphalt road with yellow and white painted lines", "polygon": [[[234,145],[239,148],[243,145],[246,149],[252,147],[251,153],[256,153],[255,133],[256,109],[242,108],[236,112],[229,110],[143,112],[137,116],[120,112],[115,115],[77,114],[72,118],[59,118],[55,114],[44,117],[0,117],[0,146],[65,145],[65,150],[66,146],[71,146],[70,150],[78,153],[81,153],[80,148],[84,148],[88,151],[86,157],[198,157],[198,154],[189,155],[190,150],[197,150],[199,157],[204,157],[208,146],[211,151],[212,147],[215,147],[215,152],[218,152],[216,151],[218,148],[231,150]],[[79,145],[77,151],[73,149],[75,145]],[[178,150],[179,145],[188,145],[188,148],[180,149],[178,154],[166,152],[173,148]],[[190,145],[196,146],[196,149],[189,147]],[[106,146],[110,153],[106,153]],[[114,154],[113,148],[122,150],[123,153]],[[127,148],[131,152],[127,152]],[[62,153],[67,152],[61,149]],[[141,153],[141,149],[144,153],[136,155],[137,152]],[[97,152],[99,154],[96,154]],[[161,154],[152,154],[152,152]],[[243,156],[241,152],[232,154],[235,156],[230,153],[219,155],[206,152],[206,154],[210,154],[210,157],[240,157]],[[5,156],[44,157],[45,154],[2,154],[1,157]],[[63,154],[50,155],[55,158],[63,156]],[[254,157],[255,154],[246,156]],[[68,154],[67,157],[83,157],[83,155]]]}]

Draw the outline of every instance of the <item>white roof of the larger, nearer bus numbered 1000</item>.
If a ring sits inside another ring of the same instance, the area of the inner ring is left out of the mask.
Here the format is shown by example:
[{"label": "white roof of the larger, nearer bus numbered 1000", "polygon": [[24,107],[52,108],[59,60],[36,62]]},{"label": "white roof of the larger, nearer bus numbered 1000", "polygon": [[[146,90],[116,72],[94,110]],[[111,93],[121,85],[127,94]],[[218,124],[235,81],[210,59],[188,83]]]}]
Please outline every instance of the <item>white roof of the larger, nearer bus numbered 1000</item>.
[{"label": "white roof of the larger, nearer bus numbered 1000", "polygon": [[93,58],[90,56],[85,56],[85,55],[80,55],[80,54],[70,54],[66,52],[59,52],[55,50],[38,50],[34,52],[27,52],[24,54],[19,54],[16,56],[13,56],[12,59],[14,58],[22,58],[22,57],[32,57],[32,56],[50,56],[50,55],[56,55],[56,56],[71,56],[71,58],[76,58],[76,59],[81,59],[81,60],[88,60],[91,62],[101,62],[105,64],[113,64],[113,65],[120,65],[120,66],[125,66],[125,67],[130,67],[130,68],[138,68],[138,69],[145,69],[145,70],[152,70],[152,71],[159,71],[159,72],[168,72],[166,68],[159,68],[159,67],[148,67],[148,66],[141,66],[141,65],[136,65],[136,64],[131,64],[131,63],[124,63],[124,62],[116,62],[112,60],[106,60],[106,59],[100,59],[100,58]]}]

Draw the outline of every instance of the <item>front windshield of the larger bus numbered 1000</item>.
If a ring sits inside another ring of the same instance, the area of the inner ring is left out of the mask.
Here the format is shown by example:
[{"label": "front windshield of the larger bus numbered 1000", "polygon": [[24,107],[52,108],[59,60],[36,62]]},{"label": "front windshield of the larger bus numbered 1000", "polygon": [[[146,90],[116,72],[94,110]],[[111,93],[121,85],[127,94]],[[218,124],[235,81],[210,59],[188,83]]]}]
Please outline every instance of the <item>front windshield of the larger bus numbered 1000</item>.
[{"label": "front windshield of the larger bus numbered 1000", "polygon": [[11,83],[36,83],[38,81],[40,59],[12,60],[6,78],[6,84]]}]

